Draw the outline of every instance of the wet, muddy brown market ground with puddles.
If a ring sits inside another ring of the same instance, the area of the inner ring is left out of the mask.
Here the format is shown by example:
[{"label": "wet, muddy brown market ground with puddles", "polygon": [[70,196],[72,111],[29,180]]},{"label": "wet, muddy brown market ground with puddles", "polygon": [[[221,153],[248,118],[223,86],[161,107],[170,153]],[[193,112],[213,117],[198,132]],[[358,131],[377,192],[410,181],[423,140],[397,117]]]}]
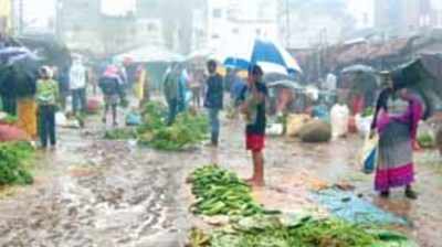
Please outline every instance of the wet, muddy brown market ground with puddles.
[{"label": "wet, muddy brown market ground with puddles", "polygon": [[[35,184],[1,197],[0,246],[182,246],[192,222],[186,175],[217,162],[249,176],[242,133],[241,124],[225,121],[219,150],[167,153],[102,140],[98,124],[82,131],[61,129],[60,148],[38,153]],[[442,246],[440,157],[417,155],[418,201],[404,200],[401,191],[379,200],[371,176],[356,163],[360,146],[356,137],[316,146],[270,138],[267,186],[255,196],[286,212],[318,210],[308,200],[309,190],[348,183],[380,207],[409,218],[413,226],[403,230],[420,246]]]}]

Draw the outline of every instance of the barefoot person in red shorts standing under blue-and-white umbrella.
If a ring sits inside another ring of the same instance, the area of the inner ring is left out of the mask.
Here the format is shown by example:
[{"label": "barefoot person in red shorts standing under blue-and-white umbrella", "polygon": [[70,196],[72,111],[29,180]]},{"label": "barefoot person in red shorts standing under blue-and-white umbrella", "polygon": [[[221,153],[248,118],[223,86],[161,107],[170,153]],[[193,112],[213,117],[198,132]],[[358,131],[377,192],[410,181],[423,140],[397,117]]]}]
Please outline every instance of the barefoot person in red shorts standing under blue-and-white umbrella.
[{"label": "barefoot person in red shorts standing under blue-and-white umbrella", "polygon": [[248,87],[243,89],[240,99],[242,100],[241,112],[248,120],[246,148],[253,157],[253,176],[249,182],[254,186],[264,186],[264,141],[265,141],[265,98],[267,87],[262,82],[263,71],[254,65],[249,71]]}]

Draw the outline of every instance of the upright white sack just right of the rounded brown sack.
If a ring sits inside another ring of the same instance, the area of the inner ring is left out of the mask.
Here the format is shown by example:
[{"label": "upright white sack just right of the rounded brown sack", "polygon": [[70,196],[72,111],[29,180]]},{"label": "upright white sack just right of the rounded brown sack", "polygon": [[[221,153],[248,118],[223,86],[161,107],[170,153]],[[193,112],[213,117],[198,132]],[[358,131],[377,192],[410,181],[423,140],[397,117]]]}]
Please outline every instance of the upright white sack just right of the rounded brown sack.
[{"label": "upright white sack just right of the rounded brown sack", "polygon": [[330,122],[332,122],[332,136],[334,139],[344,137],[348,133],[348,119],[350,110],[346,105],[336,104],[332,107]]}]

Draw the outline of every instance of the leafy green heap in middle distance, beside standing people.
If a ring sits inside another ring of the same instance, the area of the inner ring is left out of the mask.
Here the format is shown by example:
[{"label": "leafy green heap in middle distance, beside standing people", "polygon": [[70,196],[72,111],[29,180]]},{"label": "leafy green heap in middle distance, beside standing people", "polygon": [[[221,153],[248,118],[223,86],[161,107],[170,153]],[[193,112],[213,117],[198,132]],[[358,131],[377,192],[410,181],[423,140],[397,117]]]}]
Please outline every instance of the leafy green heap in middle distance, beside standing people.
[{"label": "leafy green heap in middle distance, beside standing people", "polygon": [[138,128],[139,143],[159,150],[180,151],[207,139],[208,121],[204,116],[186,111],[179,114],[171,126],[167,126],[166,116],[161,105],[146,105],[144,124]]}]

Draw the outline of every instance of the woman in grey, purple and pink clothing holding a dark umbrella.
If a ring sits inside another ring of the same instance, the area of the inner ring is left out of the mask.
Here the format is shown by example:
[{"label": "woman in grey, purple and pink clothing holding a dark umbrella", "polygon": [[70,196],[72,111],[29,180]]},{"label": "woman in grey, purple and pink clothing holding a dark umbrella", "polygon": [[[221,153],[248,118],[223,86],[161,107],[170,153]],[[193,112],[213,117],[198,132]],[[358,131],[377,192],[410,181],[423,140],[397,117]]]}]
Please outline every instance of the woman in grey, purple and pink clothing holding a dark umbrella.
[{"label": "woman in grey, purple and pink clothing holding a dark umbrella", "polygon": [[372,129],[379,133],[375,189],[382,197],[390,195],[390,189],[404,186],[406,196],[417,198],[411,184],[414,182],[413,149],[422,108],[421,100],[408,89],[394,93],[387,88],[379,96]]}]

